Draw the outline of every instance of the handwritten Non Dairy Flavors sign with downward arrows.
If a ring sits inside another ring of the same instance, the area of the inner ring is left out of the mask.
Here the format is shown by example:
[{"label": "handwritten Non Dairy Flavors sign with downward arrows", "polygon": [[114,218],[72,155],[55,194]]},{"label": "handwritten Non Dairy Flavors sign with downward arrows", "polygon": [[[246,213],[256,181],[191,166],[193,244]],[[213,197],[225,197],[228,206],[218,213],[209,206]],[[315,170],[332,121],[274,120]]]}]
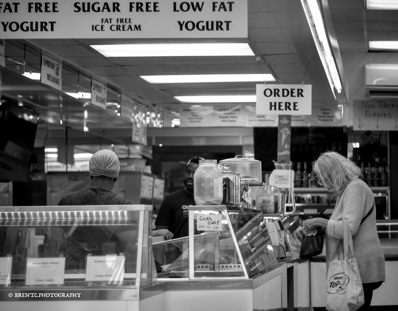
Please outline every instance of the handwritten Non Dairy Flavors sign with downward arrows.
[{"label": "handwritten Non Dairy Flavors sign with downward arrows", "polygon": [[353,130],[396,131],[398,100],[354,100]]}]

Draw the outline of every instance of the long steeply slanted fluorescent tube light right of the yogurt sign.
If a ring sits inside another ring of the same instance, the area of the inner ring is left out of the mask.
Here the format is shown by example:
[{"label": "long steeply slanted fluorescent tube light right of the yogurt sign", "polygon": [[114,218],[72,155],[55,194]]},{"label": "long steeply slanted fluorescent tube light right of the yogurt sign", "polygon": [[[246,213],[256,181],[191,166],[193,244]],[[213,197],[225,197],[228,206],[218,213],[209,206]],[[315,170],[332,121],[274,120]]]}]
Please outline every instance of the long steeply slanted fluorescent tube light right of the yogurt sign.
[{"label": "long steeply slanted fluorescent tube light right of the yogurt sign", "polygon": [[336,67],[332,49],[325,31],[324,21],[317,0],[301,0],[304,12],[310,25],[312,37],[318,50],[319,57],[328,78],[330,88],[336,98],[334,89],[341,93],[340,75]]}]

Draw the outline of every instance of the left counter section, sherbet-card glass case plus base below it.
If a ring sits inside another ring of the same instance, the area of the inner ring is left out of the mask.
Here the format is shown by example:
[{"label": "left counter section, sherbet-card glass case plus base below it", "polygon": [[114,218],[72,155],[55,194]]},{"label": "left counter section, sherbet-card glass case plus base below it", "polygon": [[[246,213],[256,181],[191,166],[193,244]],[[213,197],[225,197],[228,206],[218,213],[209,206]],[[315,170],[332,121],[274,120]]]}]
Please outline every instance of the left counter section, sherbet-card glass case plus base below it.
[{"label": "left counter section, sherbet-card glass case plus base below it", "polygon": [[[153,310],[152,206],[0,208],[2,310]],[[156,299],[155,299],[156,300]]]}]

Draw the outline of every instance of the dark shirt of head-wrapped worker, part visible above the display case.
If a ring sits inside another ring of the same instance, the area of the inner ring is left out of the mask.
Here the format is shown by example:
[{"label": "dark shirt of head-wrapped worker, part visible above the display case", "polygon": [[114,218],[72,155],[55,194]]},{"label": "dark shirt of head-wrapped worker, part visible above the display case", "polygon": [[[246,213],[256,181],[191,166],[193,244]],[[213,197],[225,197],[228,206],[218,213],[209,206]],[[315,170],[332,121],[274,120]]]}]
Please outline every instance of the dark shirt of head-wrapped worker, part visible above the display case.
[{"label": "dark shirt of head-wrapped worker, part visible above the display case", "polygon": [[58,205],[126,205],[131,204],[123,196],[118,196],[105,188],[90,187],[63,196]]}]

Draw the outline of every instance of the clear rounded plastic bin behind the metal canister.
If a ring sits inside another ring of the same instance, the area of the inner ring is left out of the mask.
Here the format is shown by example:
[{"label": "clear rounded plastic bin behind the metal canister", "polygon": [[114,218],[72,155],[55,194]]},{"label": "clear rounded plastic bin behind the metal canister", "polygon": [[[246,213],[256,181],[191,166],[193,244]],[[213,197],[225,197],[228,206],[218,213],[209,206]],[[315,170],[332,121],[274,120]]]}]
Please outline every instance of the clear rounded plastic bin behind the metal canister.
[{"label": "clear rounded plastic bin behind the metal canister", "polygon": [[236,156],[220,161],[221,164],[229,165],[229,169],[240,174],[240,181],[261,182],[261,161],[249,159],[244,156]]}]

